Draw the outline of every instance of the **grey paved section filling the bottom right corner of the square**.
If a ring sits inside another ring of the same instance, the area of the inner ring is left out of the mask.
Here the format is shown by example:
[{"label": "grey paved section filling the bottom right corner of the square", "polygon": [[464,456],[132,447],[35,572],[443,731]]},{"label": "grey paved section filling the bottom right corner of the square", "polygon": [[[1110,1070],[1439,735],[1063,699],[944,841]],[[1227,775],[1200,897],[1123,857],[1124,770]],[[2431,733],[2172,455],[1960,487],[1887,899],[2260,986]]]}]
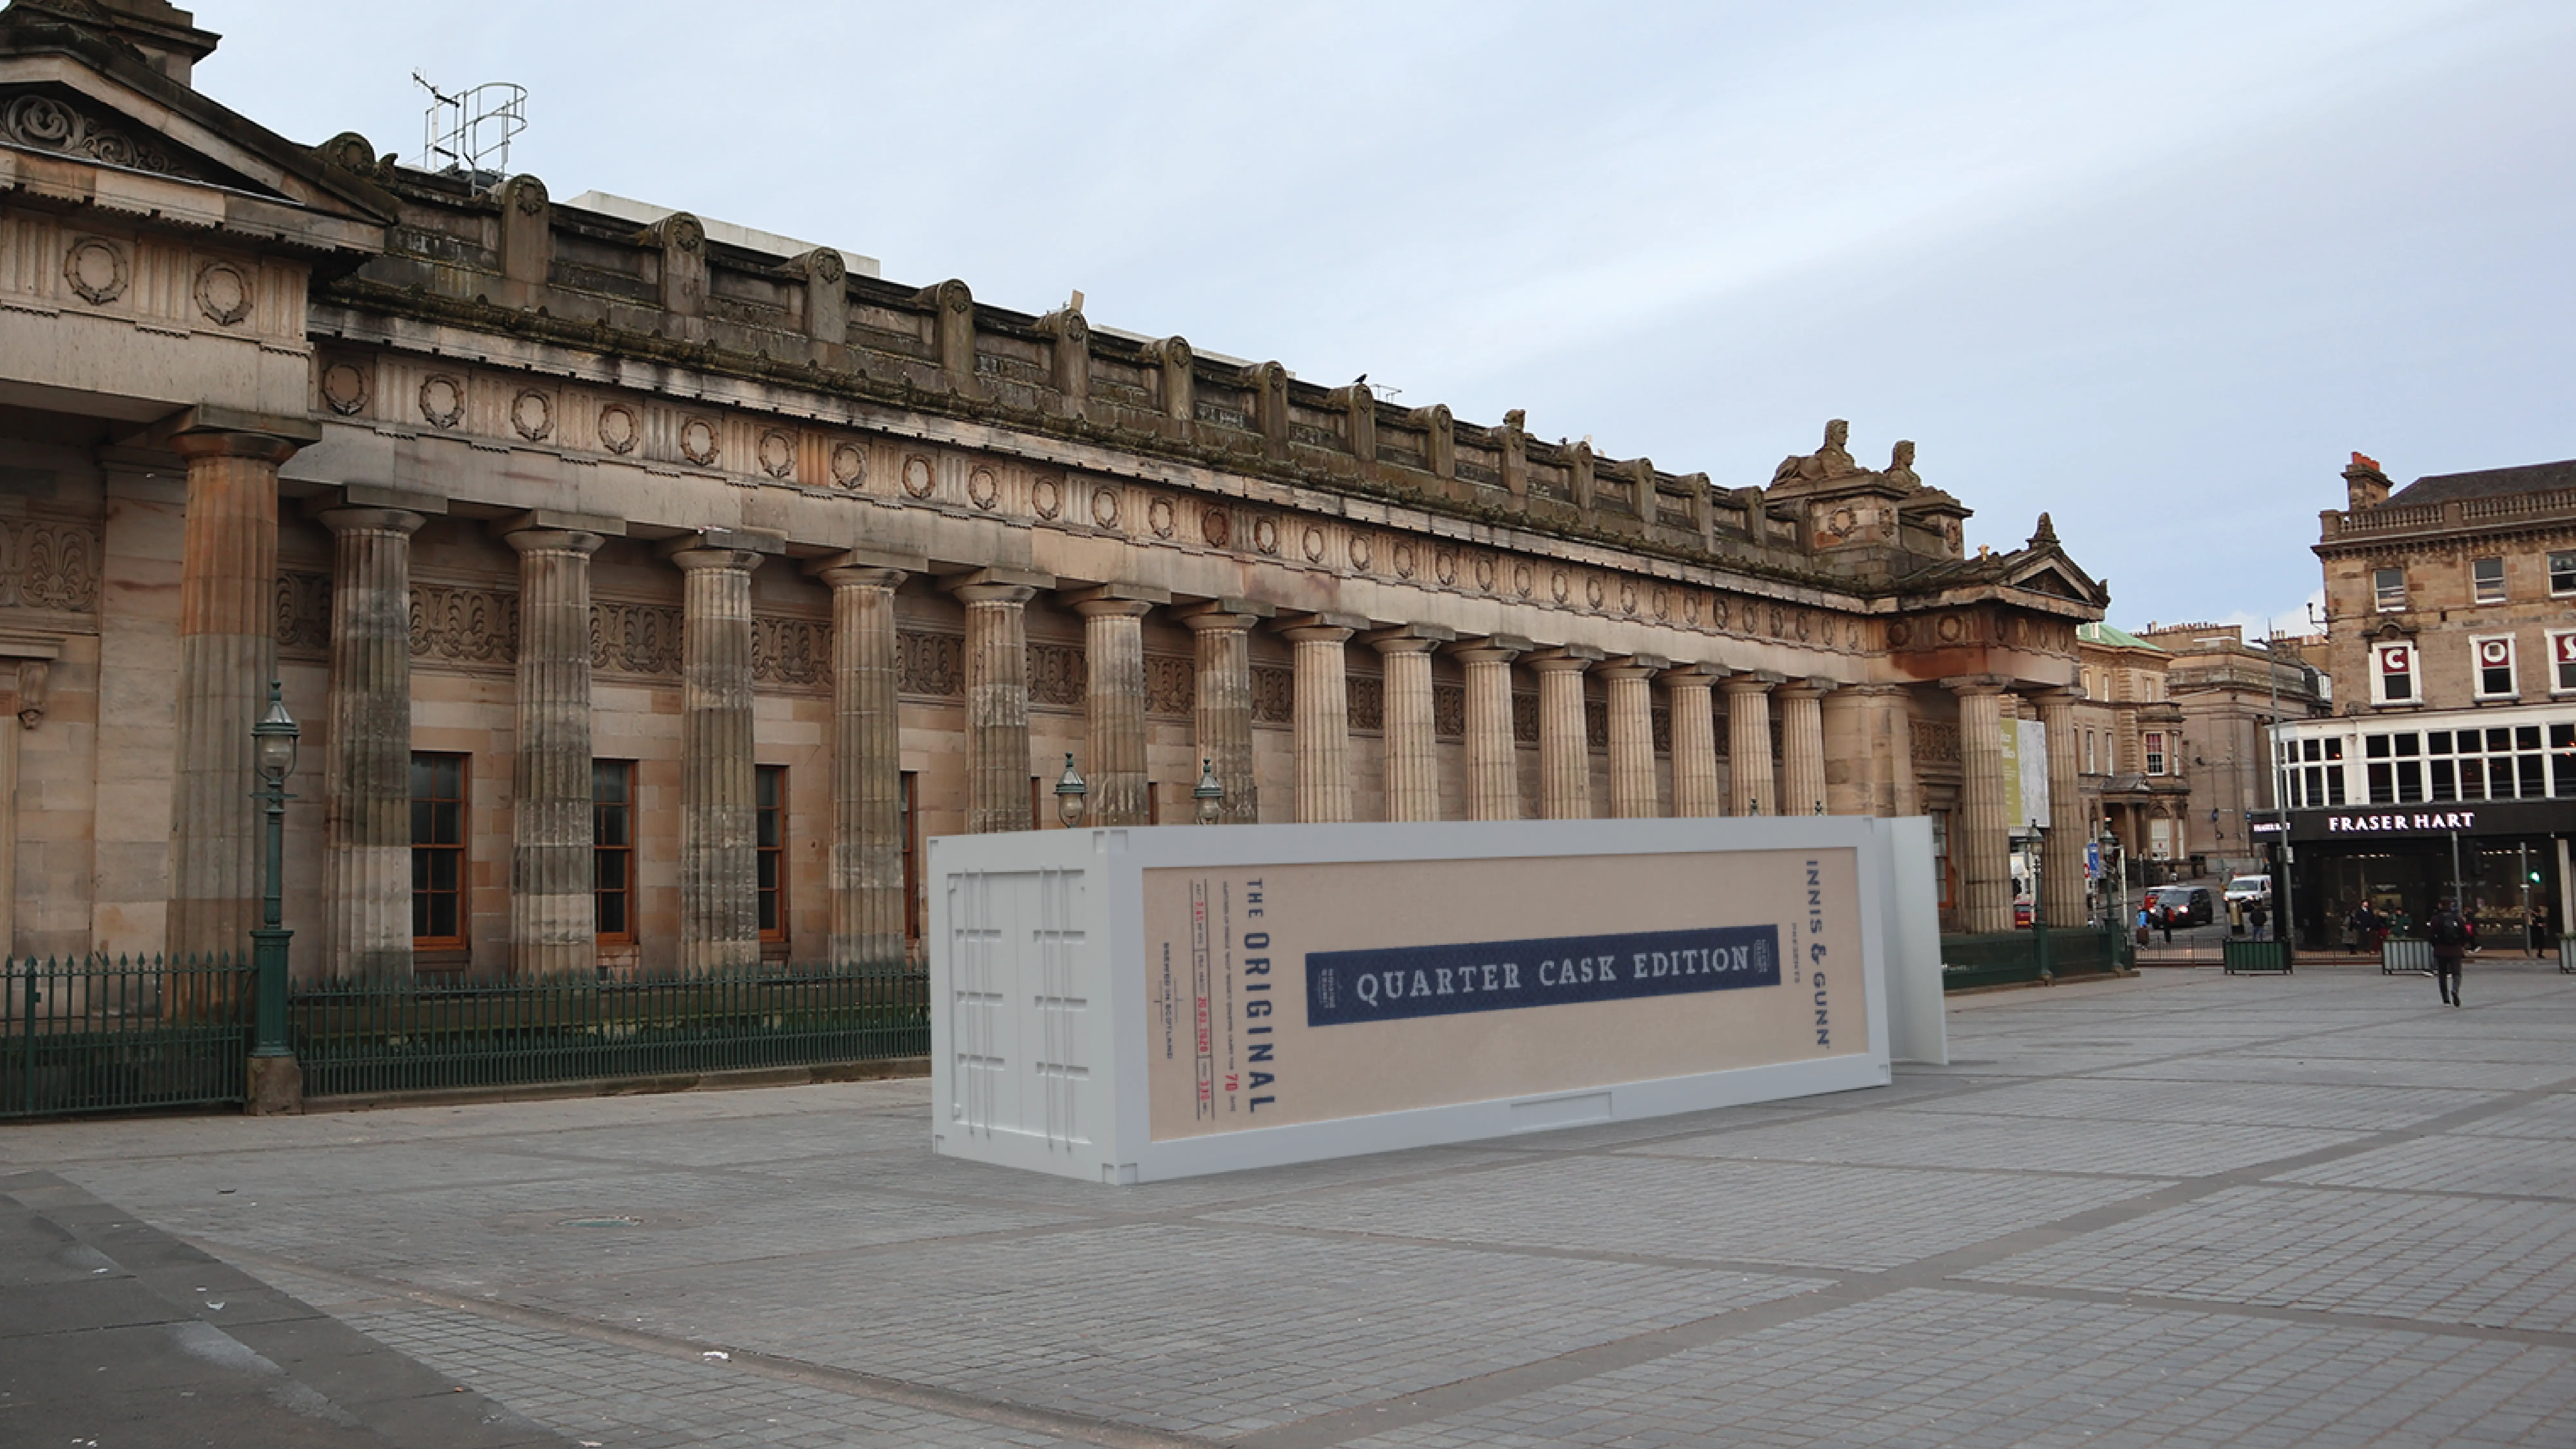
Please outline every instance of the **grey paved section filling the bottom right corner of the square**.
[{"label": "grey paved section filling the bottom right corner of the square", "polygon": [[1909,1289],[1352,1444],[2553,1444],[2571,1416],[2566,1349]]}]

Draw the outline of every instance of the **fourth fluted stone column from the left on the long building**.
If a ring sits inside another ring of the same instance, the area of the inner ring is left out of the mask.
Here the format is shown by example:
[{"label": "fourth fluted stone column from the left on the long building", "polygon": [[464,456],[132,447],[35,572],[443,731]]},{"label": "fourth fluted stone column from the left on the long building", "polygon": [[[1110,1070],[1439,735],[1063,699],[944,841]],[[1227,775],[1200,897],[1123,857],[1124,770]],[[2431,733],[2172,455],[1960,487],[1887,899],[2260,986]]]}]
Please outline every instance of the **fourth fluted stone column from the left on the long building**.
[{"label": "fourth fluted stone column from the left on the long building", "polygon": [[721,535],[680,566],[680,970],[760,965],[760,772],[752,762],[752,569]]}]

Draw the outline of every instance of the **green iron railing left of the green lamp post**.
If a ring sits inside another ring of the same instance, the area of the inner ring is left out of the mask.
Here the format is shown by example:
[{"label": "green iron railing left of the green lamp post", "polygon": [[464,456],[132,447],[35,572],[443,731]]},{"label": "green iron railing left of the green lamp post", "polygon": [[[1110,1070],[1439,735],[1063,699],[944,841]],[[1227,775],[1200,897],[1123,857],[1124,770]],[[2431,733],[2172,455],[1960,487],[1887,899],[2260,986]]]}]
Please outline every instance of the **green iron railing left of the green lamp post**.
[{"label": "green iron railing left of the green lamp post", "polygon": [[0,963],[0,1117],[237,1104],[250,993],[229,955]]}]

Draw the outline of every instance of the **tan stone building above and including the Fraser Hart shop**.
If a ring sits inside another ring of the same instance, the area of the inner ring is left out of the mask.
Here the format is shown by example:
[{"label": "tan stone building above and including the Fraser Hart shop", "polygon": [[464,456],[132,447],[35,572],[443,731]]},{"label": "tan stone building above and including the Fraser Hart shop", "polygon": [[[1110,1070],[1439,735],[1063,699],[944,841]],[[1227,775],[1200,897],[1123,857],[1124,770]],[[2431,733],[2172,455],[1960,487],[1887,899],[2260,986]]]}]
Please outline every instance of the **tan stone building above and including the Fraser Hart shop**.
[{"label": "tan stone building above and including the Fraser Hart shop", "polygon": [[2298,921],[2424,919],[2460,891],[2494,942],[2561,929],[2576,834],[2576,461],[2391,492],[2360,453],[2318,517],[2334,713],[2282,723]]}]

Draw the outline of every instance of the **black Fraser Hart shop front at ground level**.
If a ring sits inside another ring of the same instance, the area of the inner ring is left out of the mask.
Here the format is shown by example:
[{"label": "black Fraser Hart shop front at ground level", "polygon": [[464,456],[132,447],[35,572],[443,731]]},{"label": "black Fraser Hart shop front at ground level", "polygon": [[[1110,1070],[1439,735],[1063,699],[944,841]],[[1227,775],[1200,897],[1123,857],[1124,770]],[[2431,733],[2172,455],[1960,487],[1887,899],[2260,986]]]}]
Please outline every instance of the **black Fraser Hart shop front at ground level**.
[{"label": "black Fraser Hart shop front at ground level", "polygon": [[[2488,950],[2555,942],[2568,919],[2576,800],[2455,800],[2290,811],[2300,947],[2344,947],[2365,901],[2401,924],[2458,896]],[[2535,932],[2537,919],[2537,932]]]}]

